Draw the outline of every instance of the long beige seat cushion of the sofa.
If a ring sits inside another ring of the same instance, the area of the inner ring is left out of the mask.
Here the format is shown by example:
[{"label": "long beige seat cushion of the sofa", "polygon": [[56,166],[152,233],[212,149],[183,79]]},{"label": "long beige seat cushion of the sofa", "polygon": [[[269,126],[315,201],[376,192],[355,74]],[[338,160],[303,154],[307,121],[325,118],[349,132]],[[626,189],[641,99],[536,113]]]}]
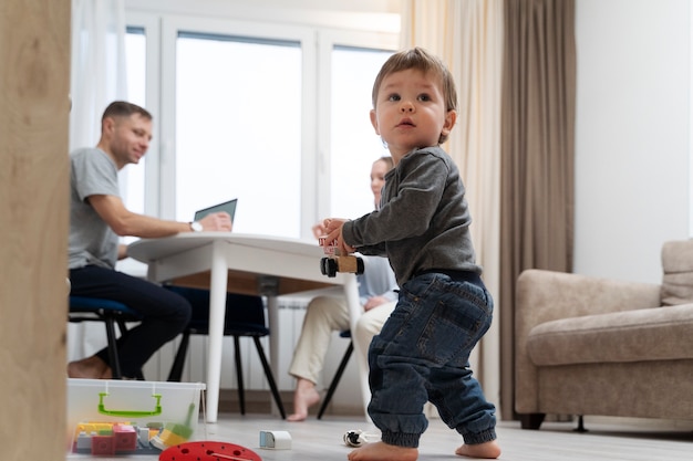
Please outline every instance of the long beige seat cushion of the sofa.
[{"label": "long beige seat cushion of the sofa", "polygon": [[693,304],[562,318],[535,326],[537,366],[693,358]]}]

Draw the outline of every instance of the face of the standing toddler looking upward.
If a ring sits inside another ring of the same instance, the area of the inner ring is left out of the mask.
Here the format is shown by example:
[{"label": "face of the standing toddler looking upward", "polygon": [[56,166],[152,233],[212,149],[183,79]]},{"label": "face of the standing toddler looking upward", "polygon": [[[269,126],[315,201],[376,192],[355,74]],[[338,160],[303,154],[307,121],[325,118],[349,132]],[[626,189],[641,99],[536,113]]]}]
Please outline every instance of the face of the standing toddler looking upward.
[{"label": "face of the standing toddler looking upward", "polygon": [[454,111],[446,111],[439,80],[418,70],[385,76],[376,103],[371,123],[393,156],[437,146],[441,134],[448,134],[455,123]]}]

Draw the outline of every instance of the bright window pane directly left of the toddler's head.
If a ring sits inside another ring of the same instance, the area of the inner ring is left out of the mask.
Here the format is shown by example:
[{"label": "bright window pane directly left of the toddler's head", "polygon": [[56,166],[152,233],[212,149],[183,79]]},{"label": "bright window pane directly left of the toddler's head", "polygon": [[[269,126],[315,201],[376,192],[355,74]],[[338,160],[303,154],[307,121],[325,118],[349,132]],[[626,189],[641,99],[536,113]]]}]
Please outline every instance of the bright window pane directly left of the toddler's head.
[{"label": "bright window pane directly left of the toddler's head", "polygon": [[364,48],[333,48],[330,216],[358,218],[373,210],[371,166],[390,153],[371,125],[371,93],[375,75],[391,54]]}]

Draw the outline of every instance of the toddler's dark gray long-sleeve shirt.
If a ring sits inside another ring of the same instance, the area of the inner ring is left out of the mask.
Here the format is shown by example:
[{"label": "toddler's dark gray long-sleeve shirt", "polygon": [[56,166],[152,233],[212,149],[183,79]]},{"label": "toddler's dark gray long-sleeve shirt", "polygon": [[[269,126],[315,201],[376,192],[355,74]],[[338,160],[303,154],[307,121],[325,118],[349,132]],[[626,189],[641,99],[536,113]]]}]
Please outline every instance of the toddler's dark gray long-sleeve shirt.
[{"label": "toddler's dark gray long-sleeve shirt", "polygon": [[385,176],[382,203],[344,223],[344,241],[362,254],[387,256],[397,284],[428,270],[479,273],[472,217],[459,170],[439,147],[406,154]]}]

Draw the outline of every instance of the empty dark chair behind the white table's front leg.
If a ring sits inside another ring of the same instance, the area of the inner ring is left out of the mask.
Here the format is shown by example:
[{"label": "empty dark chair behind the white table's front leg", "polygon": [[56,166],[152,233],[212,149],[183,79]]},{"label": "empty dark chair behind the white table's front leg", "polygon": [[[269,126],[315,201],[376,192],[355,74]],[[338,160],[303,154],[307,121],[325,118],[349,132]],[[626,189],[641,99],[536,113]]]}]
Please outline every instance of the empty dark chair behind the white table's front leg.
[{"label": "empty dark chair behind the white table's front leg", "polygon": [[[193,305],[193,318],[190,319],[188,327],[185,332],[183,332],[180,346],[178,347],[176,358],[174,359],[174,364],[168,375],[169,381],[180,381],[190,335],[209,334],[209,291],[173,285],[167,285],[166,287],[180,294]],[[260,296],[228,293],[226,297],[224,335],[234,336],[240,413],[246,413],[246,398],[239,338],[241,336],[250,336],[260,357],[262,369],[265,370],[265,377],[269,384],[275,402],[279,408],[281,418],[286,419],[287,415],[285,412],[283,405],[281,404],[281,397],[279,396],[279,390],[277,389],[277,383],[275,381],[275,376],[272,375],[267,356],[265,355],[265,348],[260,343],[260,338],[262,336],[269,335],[269,328],[265,326],[265,304],[262,303],[262,298]]]}]

